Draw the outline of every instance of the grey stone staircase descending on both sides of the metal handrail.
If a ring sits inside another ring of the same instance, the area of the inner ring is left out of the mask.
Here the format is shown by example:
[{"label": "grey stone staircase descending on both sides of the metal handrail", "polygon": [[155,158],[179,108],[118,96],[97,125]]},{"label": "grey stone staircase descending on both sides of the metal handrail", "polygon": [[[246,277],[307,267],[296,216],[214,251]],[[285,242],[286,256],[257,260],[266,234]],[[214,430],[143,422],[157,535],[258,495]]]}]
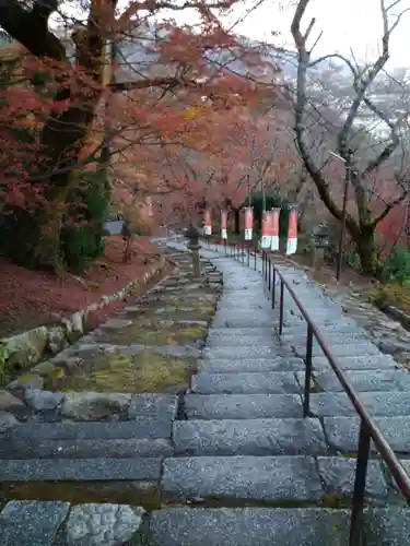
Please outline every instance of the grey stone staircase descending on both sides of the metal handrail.
[{"label": "grey stone staircase descending on both sides of the metal handrail", "polygon": [[[153,512],[152,544],[348,545],[356,414],[315,345],[312,416],[302,417],[306,325],[288,297],[279,340],[272,331],[278,311],[260,275],[216,259],[224,295],[185,397],[185,420],[174,423],[175,454],[164,461],[162,489],[176,506]],[[321,294],[318,298],[315,287],[303,286],[292,270],[289,275],[330,332],[333,352],[366,407],[393,447],[408,456],[410,376]],[[368,464],[366,505],[366,546],[407,542],[410,512],[376,452]]]}]

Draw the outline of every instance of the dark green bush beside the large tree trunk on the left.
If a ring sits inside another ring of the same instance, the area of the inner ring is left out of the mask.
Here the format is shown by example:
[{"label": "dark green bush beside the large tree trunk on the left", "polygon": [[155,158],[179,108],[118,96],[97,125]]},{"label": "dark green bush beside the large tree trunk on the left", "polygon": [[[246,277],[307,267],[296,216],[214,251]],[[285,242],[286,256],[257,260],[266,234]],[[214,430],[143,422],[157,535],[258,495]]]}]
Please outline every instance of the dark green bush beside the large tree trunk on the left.
[{"label": "dark green bush beside the large tree trunk on the left", "polygon": [[83,272],[105,249],[104,222],[109,212],[109,189],[98,173],[81,173],[68,194],[61,251],[67,266]]}]

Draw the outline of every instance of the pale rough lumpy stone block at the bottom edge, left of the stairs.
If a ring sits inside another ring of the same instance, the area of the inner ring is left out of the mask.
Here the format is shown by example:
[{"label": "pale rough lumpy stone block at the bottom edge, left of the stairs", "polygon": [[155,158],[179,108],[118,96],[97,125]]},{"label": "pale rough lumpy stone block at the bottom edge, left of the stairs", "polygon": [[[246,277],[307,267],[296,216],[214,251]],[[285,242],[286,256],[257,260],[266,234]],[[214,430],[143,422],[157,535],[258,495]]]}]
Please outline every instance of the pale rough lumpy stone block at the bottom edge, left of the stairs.
[{"label": "pale rough lumpy stone block at the bottom edge, left of the stairs", "polygon": [[139,530],[144,510],[126,505],[79,505],[67,522],[68,546],[117,546]]}]

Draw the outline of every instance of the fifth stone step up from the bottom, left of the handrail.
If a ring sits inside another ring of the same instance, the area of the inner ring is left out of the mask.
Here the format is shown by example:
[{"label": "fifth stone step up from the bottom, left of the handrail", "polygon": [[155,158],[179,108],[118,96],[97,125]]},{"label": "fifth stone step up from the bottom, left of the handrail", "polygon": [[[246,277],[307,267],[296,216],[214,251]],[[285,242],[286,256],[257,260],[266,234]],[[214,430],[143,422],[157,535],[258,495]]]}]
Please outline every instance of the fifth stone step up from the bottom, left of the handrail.
[{"label": "fifth stone step up from the bottom, left of the handrail", "polygon": [[199,373],[191,390],[201,394],[293,394],[301,391],[292,372]]}]

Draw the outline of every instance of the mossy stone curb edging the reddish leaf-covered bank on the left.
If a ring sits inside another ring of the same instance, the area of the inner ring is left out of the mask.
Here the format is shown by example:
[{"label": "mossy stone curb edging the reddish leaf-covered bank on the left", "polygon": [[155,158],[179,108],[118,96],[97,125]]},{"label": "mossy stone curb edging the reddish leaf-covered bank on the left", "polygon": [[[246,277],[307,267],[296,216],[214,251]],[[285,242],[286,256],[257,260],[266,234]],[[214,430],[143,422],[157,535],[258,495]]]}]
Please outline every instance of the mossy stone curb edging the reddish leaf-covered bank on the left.
[{"label": "mossy stone curb edging the reddish leaf-covered bank on the left", "polygon": [[[114,301],[127,299],[137,288],[145,286],[153,277],[161,274],[167,263],[168,260],[161,257],[155,260],[155,263],[144,273],[142,278],[131,281],[120,290],[103,296],[99,302],[91,304],[85,309],[65,317],[57,325],[38,327],[0,340],[0,349],[4,354],[4,364],[19,364],[23,372],[7,388],[36,387],[38,372],[35,367],[32,368],[33,365],[40,363],[48,354],[57,355],[75,342],[83,335],[86,320],[91,313]],[[26,381],[22,381],[23,378],[26,378]]]}]

